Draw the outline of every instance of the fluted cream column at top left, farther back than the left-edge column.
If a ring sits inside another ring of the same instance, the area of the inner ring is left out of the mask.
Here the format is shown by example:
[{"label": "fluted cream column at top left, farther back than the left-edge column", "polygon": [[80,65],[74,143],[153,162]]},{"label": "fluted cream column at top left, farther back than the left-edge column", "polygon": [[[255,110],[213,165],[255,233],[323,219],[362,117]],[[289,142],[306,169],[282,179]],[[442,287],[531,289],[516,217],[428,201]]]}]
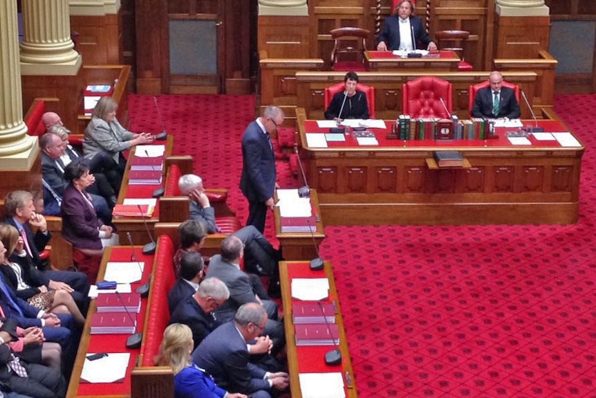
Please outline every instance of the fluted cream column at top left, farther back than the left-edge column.
[{"label": "fluted cream column at top left, farther back than the left-edge column", "polygon": [[71,40],[68,0],[22,0],[25,75],[74,75],[81,57]]}]

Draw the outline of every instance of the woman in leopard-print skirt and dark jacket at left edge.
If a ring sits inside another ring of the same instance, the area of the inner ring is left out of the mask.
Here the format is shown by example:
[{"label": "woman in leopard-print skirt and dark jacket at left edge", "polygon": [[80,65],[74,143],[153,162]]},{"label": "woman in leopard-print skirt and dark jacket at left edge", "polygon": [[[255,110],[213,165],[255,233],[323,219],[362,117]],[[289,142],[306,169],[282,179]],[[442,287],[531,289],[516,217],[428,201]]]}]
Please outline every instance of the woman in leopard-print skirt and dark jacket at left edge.
[{"label": "woman in leopard-print skirt and dark jacket at left edge", "polygon": [[51,289],[50,279],[33,266],[17,228],[0,224],[0,240],[7,251],[0,263],[0,272],[17,297],[46,312],[71,314],[77,323],[83,325],[85,318],[71,293],[64,289]]}]

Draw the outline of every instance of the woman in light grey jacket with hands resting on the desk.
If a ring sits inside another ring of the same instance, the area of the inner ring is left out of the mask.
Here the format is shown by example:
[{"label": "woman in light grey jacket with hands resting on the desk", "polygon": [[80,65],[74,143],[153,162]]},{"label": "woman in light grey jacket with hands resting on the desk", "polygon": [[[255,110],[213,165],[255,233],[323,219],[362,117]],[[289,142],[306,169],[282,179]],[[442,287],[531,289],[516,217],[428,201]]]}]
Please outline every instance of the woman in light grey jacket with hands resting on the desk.
[{"label": "woman in light grey jacket with hands resting on the desk", "polygon": [[118,163],[120,173],[124,174],[127,161],[122,151],[141,144],[153,143],[154,137],[149,133],[133,133],[122,127],[116,119],[118,104],[111,97],[102,97],[93,108],[91,121],[85,129],[83,153],[87,159],[101,151],[108,152]]}]

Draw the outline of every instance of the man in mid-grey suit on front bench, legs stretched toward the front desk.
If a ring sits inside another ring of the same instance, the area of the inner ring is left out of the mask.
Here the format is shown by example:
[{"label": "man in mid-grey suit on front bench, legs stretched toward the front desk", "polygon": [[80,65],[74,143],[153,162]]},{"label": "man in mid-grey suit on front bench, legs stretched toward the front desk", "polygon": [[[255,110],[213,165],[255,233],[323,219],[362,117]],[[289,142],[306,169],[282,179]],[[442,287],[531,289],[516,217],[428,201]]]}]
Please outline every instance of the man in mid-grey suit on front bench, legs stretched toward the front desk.
[{"label": "man in mid-grey suit on front bench, legs stretched toward the front desk", "polygon": [[268,316],[264,333],[273,341],[272,353],[277,354],[286,345],[283,323],[277,320],[277,304],[269,298],[257,275],[245,273],[240,269],[243,253],[244,245],[241,239],[230,235],[221,242],[221,255],[214,255],[209,262],[207,278],[218,278],[230,289],[230,298],[215,311],[215,314],[220,322],[227,322],[234,318],[241,305],[248,302],[261,305]]}]

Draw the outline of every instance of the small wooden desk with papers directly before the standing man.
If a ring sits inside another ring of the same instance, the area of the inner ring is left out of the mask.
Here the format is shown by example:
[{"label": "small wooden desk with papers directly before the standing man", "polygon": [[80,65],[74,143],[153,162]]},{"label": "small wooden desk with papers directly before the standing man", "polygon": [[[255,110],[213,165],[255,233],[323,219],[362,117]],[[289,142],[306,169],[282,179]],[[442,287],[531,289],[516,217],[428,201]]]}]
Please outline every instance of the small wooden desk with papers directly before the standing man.
[{"label": "small wooden desk with papers directly before the standing man", "polygon": [[[277,201],[277,194],[275,195]],[[317,190],[310,190],[310,206],[313,207],[315,214],[319,214],[317,219],[317,230],[313,233],[282,233],[281,232],[281,217],[279,215],[279,207],[273,210],[275,219],[275,236],[279,239],[283,258],[288,261],[297,260],[311,260],[319,257],[317,249],[325,237],[322,217],[319,212],[319,197]],[[316,248],[315,248],[316,246]]]}]

